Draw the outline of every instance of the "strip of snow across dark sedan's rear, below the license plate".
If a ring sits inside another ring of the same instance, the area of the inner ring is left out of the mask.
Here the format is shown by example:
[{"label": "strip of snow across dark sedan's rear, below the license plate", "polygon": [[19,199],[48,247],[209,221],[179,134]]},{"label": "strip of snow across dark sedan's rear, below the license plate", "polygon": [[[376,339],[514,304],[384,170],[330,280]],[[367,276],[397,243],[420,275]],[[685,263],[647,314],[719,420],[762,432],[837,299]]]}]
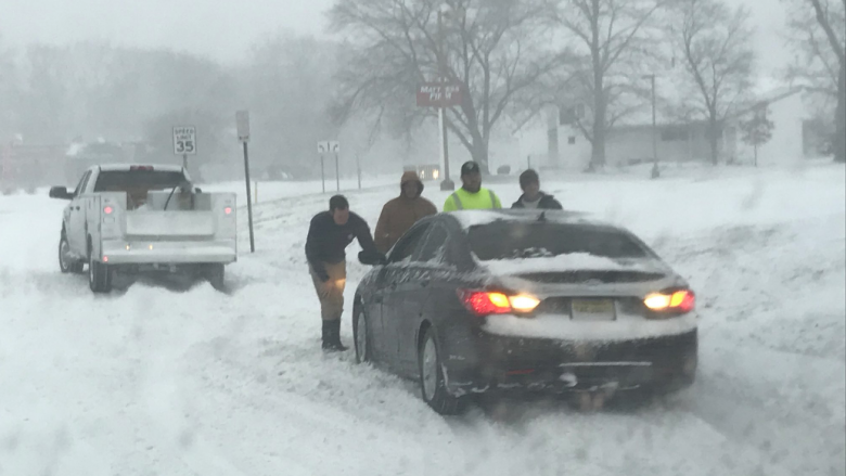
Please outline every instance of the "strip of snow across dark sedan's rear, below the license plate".
[{"label": "strip of snow across dark sedan's rear, below the license plate", "polygon": [[483,329],[491,334],[562,340],[637,340],[679,335],[696,329],[695,313],[651,321],[637,316],[618,316],[616,321],[579,322],[569,316],[541,314],[535,318],[490,316]]}]

